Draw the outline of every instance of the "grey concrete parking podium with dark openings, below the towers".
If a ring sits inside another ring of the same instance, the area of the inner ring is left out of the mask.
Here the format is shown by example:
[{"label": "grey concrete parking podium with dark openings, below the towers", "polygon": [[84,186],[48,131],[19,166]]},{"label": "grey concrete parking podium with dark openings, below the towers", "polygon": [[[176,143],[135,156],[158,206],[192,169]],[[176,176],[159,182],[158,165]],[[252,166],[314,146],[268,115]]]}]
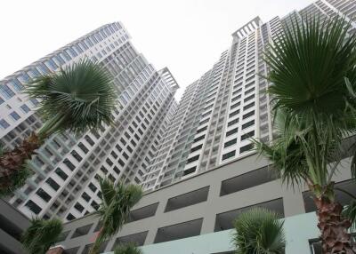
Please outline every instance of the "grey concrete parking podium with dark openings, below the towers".
[{"label": "grey concrete parking podium with dark openings, below the towers", "polygon": [[[231,230],[233,219],[239,216],[239,212],[251,206],[275,210],[281,218],[291,218],[313,210],[309,204],[312,199],[305,192],[305,187],[296,187],[293,190],[282,185],[279,179],[268,181],[265,181],[265,178],[259,179],[258,175],[269,172],[268,167],[269,163],[264,159],[257,158],[256,155],[248,155],[216,167],[212,171],[206,171],[197,177],[184,179],[179,183],[145,194],[141,202],[132,210],[131,222],[107,242],[102,251],[112,250],[115,242],[162,246],[159,245],[163,244],[162,242],[167,245],[174,240],[198,235],[205,239],[203,236],[205,234]],[[351,178],[349,158],[345,158],[341,163],[340,172],[335,179],[336,182],[355,193],[352,183],[348,181]],[[254,177],[248,174],[254,174]],[[206,190],[207,195],[203,194]],[[343,204],[349,201],[347,196],[341,193],[337,193],[337,199]],[[100,226],[97,225],[98,218],[95,215],[73,220],[64,226],[66,238],[59,244],[65,250],[76,250],[69,253],[85,254],[86,250],[89,250],[89,247],[85,249],[85,246],[89,246],[94,241],[99,230]],[[314,226],[316,227],[316,224]],[[80,235],[77,234],[78,231],[85,233]],[[208,236],[206,237],[207,240]],[[289,237],[293,238],[292,234]],[[298,236],[295,235],[292,240],[297,239]],[[202,246],[196,248],[204,250]],[[147,248],[156,250],[156,247]],[[209,254],[209,252],[201,253]]]}]

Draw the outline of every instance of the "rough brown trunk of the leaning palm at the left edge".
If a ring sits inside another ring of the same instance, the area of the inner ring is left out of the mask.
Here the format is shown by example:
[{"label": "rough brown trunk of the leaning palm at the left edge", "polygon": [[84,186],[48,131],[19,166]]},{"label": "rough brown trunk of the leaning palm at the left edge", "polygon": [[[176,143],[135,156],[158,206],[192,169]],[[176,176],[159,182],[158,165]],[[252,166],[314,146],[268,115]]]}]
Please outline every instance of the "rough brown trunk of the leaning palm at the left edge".
[{"label": "rough brown trunk of the leaning palm at the left edge", "polygon": [[5,152],[0,156],[0,188],[8,187],[9,179],[17,171],[20,171],[26,160],[31,159],[35,150],[41,146],[42,139],[39,139],[33,132],[28,139],[24,139],[19,147],[15,147],[12,151]]}]

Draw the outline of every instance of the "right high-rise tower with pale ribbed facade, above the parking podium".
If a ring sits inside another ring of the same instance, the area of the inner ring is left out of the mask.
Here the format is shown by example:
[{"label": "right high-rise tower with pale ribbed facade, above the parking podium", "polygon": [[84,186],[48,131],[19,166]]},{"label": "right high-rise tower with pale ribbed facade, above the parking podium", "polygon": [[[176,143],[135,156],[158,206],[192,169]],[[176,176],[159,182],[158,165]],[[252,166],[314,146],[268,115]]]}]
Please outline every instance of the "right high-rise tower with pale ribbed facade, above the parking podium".
[{"label": "right high-rise tower with pale ribbed facade, above the parking podium", "polygon": [[[164,187],[177,180],[251,155],[251,137],[272,139],[268,73],[263,50],[286,26],[302,18],[344,16],[356,31],[355,1],[317,1],[300,12],[263,23],[256,17],[232,34],[231,47],[214,67],[191,83],[167,129],[143,186]],[[305,20],[304,19],[304,20]],[[256,75],[260,74],[260,75]]]}]

